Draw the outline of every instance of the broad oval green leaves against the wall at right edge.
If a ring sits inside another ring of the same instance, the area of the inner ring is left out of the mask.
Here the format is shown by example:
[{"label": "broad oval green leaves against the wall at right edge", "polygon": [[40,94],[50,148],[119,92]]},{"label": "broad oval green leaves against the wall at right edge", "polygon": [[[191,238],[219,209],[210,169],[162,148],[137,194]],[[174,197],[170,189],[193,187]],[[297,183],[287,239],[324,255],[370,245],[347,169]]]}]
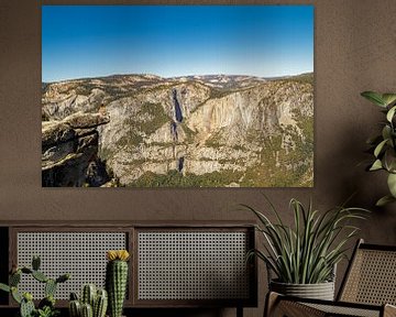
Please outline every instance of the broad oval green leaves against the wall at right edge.
[{"label": "broad oval green leaves against the wall at right edge", "polygon": [[388,173],[387,185],[391,195],[382,197],[376,203],[377,206],[384,206],[396,201],[396,94],[364,91],[361,95],[378,106],[385,116],[381,133],[367,140],[374,157],[366,168],[370,172],[384,170]]}]

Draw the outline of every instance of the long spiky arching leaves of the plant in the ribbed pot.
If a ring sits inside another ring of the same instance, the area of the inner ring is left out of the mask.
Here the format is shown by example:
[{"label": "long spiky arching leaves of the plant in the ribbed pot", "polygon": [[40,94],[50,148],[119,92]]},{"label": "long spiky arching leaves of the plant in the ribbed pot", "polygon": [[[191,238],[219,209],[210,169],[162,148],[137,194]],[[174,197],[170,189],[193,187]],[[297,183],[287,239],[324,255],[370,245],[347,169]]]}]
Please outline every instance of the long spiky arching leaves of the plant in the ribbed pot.
[{"label": "long spiky arching leaves of the plant in the ribbed pot", "polygon": [[252,250],[249,256],[256,255],[264,261],[282,283],[316,284],[330,281],[334,265],[345,256],[345,245],[359,230],[350,225],[351,220],[364,219],[367,210],[341,206],[319,212],[314,210],[311,203],[306,208],[293,198],[290,208],[294,223],[289,227],[283,222],[274,205],[266,200],[276,221],[271,221],[264,212],[242,205],[257,217],[260,225],[256,229],[264,238],[263,250]]}]

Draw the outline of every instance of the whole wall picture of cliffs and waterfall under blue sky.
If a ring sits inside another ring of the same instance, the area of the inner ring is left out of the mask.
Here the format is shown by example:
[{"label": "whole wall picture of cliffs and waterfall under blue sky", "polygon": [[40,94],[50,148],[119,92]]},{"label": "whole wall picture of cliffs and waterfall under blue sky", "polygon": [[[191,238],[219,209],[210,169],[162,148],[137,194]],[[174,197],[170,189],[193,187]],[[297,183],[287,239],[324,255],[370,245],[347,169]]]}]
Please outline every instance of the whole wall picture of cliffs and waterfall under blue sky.
[{"label": "whole wall picture of cliffs and waterfall under blue sky", "polygon": [[42,185],[314,186],[314,7],[42,6]]}]

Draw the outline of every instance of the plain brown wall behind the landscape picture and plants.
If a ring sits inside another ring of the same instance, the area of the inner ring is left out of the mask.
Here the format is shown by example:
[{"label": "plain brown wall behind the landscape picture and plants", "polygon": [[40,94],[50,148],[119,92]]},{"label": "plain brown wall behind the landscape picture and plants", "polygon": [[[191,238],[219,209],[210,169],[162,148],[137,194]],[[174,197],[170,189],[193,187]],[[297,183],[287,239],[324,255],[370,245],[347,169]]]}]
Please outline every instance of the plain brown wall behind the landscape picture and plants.
[{"label": "plain brown wall behind the landscape picture and plants", "polygon": [[[42,3],[72,4],[81,1],[47,0]],[[110,0],[84,3],[110,3]],[[199,3],[213,2],[207,0]],[[218,0],[216,3],[238,2]],[[386,192],[384,175],[369,174],[359,163],[367,157],[363,153],[365,140],[376,131],[381,119],[378,109],[364,101],[360,92],[367,89],[396,91],[396,24],[393,23],[396,2],[267,0],[265,3],[311,3],[316,7],[314,188],[42,188],[40,1],[1,0],[0,220],[252,219],[250,215],[232,208],[232,205],[245,203],[260,207],[264,203],[261,193],[265,193],[290,221],[287,205],[292,197],[305,203],[312,197],[315,206],[324,209],[342,203],[356,192],[352,204],[373,210],[371,220],[362,225],[361,236],[371,242],[395,244],[396,205],[383,209],[373,207],[376,198]],[[342,276],[343,266],[339,271]],[[263,270],[261,273],[264,275]],[[262,314],[266,289],[264,277],[260,277],[260,308],[249,309],[248,316]],[[215,315],[233,314],[233,310],[226,310]]]}]

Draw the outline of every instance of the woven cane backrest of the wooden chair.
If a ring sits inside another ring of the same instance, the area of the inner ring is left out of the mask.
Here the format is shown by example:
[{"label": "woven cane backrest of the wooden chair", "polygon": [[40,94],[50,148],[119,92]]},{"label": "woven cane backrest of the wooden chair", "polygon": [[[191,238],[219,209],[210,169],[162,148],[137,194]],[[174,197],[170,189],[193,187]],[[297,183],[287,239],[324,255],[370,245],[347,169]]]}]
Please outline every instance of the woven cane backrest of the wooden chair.
[{"label": "woven cane backrest of the wooden chair", "polygon": [[358,241],[338,300],[396,305],[396,247]]}]

